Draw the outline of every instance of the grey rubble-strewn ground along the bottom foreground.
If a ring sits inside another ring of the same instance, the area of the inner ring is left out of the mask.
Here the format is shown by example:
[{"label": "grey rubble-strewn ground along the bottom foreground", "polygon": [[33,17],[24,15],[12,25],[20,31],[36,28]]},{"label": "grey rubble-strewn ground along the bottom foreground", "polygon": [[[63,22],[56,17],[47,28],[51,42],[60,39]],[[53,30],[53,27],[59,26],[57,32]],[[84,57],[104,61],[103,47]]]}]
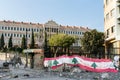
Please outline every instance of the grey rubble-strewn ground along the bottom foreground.
[{"label": "grey rubble-strewn ground along the bottom foreground", "polygon": [[0,73],[0,80],[120,80],[120,73],[95,73],[73,68],[71,71],[45,71],[12,68]]}]

